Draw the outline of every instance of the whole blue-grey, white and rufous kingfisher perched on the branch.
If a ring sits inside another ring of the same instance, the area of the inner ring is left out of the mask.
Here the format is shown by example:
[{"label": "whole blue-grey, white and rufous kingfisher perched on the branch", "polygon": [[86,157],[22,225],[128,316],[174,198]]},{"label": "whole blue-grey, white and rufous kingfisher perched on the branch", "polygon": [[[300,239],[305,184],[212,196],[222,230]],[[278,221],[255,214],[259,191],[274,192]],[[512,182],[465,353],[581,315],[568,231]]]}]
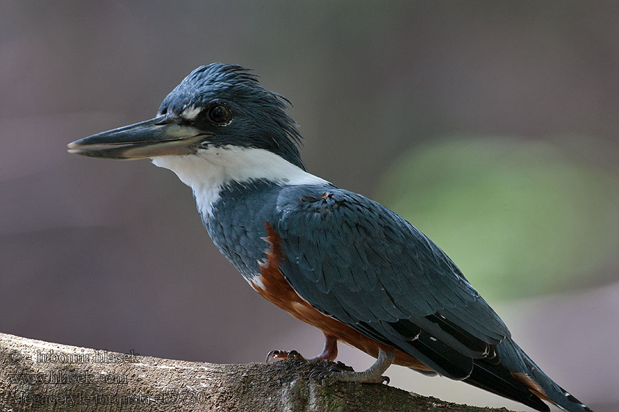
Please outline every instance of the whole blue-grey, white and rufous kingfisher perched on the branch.
[{"label": "whole blue-grey, white and rufous kingfisher perched on the branch", "polygon": [[153,119],[68,144],[105,159],[151,159],[191,187],[219,251],[262,297],[320,329],[304,358],[339,341],[376,358],[318,378],[382,383],[391,364],[462,380],[537,411],[591,412],[512,340],[501,318],[424,233],[369,198],[306,171],[290,101],[239,65],[193,70]]}]

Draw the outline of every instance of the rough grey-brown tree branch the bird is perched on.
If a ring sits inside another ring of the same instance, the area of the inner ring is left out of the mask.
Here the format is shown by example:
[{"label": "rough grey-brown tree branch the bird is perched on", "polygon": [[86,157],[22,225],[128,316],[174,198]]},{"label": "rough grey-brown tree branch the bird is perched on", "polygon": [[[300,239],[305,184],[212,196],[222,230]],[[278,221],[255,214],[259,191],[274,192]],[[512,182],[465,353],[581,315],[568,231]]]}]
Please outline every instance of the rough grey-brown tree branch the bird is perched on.
[{"label": "rough grey-brown tree branch the bird is perched on", "polygon": [[322,384],[331,363],[216,365],[118,354],[0,334],[0,411],[509,412],[387,385]]}]

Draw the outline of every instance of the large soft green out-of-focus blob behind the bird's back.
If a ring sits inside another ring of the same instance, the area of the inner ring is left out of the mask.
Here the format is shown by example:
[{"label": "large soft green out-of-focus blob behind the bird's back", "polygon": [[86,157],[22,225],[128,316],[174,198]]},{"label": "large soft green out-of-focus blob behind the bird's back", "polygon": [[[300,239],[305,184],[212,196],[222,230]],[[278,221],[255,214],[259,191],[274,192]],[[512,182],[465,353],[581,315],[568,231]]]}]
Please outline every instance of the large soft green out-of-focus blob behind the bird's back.
[{"label": "large soft green out-of-focus blob behind the bird's back", "polygon": [[550,144],[453,138],[415,147],[378,195],[488,299],[616,280],[603,269],[619,251],[619,183]]}]

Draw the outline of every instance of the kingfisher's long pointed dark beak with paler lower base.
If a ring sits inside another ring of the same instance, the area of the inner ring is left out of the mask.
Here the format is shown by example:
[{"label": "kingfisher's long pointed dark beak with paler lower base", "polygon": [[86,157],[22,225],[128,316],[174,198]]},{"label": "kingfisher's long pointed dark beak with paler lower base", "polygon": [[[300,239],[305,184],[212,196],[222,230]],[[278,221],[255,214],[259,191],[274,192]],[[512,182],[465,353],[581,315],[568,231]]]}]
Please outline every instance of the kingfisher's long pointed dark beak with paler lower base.
[{"label": "kingfisher's long pointed dark beak with paler lower base", "polygon": [[67,144],[69,153],[105,159],[144,159],[191,155],[206,136],[197,128],[158,116],[146,122],[98,133]]}]

